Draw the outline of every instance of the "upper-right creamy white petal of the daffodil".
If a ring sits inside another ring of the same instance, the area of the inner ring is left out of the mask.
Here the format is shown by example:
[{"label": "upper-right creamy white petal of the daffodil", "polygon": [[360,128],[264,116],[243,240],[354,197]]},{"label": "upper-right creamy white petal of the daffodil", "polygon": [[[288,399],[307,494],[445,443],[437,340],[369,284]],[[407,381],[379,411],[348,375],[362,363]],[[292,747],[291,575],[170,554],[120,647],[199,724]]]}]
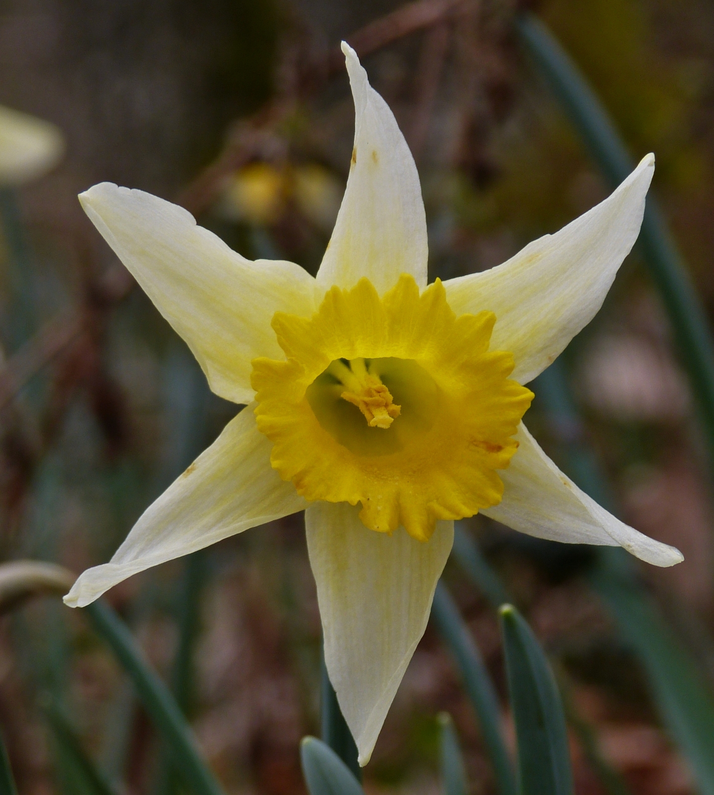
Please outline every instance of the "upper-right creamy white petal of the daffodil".
[{"label": "upper-right creamy white petal of the daffodil", "polygon": [[602,306],[639,234],[653,174],[649,154],[611,196],[555,235],[503,265],[444,283],[457,315],[495,312],[491,350],[513,353],[519,383],[545,370]]}]

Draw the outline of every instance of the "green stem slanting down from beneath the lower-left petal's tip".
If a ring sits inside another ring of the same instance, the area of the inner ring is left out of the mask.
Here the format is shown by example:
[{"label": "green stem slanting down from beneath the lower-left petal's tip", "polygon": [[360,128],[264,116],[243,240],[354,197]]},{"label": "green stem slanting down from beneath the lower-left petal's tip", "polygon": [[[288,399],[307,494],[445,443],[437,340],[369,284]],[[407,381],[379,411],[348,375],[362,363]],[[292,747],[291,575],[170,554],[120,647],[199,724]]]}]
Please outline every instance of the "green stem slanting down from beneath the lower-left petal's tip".
[{"label": "green stem slanting down from beneath the lower-left petal's tip", "polygon": [[101,601],[83,609],[134,683],[146,712],[168,743],[174,764],[188,788],[195,795],[223,795],[223,789],[200,756],[196,739],[176,700],[138,650],[126,624]]}]

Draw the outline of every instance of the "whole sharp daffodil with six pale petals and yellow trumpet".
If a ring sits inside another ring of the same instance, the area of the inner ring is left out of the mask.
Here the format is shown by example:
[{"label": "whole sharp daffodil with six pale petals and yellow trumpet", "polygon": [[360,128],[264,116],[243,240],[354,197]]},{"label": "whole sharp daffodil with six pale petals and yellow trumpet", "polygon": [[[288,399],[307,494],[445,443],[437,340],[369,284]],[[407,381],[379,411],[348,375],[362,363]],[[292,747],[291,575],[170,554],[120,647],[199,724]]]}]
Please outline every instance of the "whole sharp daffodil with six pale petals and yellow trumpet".
[{"label": "whole sharp daffodil with six pale petals and yellow trumpet", "polygon": [[316,278],[250,262],[141,191],[99,184],[80,197],[211,389],[248,405],[65,602],[81,607],[149,566],[304,509],[325,661],[366,764],[424,633],[454,520],[480,510],[658,566],[682,558],[593,502],[521,422],[533,397],[523,385],[592,319],[631,250],[654,157],[556,235],[427,286],[416,166],[355,52],[343,52],[355,149]]}]

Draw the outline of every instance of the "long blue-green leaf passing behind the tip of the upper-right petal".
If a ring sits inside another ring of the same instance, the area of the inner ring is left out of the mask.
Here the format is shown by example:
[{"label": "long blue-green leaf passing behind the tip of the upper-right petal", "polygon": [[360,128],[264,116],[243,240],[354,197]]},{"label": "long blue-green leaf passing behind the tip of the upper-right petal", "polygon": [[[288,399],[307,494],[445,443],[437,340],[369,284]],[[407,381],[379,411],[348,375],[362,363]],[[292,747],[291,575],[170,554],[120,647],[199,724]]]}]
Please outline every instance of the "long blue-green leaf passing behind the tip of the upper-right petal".
[{"label": "long blue-green leaf passing behind the tip of the upper-right petal", "polygon": [[[576,64],[534,14],[516,17],[516,30],[539,72],[580,134],[600,170],[615,187],[634,161],[607,111]],[[714,345],[704,308],[677,245],[652,196],[647,199],[639,246],[669,315],[714,470]]]}]

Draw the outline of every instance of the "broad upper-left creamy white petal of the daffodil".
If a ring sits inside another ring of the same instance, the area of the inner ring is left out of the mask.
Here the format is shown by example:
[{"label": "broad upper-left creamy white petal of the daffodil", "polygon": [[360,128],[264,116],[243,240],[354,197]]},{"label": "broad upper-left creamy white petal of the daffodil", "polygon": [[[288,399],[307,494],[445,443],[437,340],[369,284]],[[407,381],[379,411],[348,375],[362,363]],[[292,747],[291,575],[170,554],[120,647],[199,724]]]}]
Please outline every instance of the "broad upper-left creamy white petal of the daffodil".
[{"label": "broad upper-left creamy white petal of the daffodil", "polygon": [[103,182],[80,202],[118,258],[188,343],[215,394],[253,400],[250,361],[283,359],[270,320],[310,315],[315,280],[293,262],[250,262],[183,207]]}]

